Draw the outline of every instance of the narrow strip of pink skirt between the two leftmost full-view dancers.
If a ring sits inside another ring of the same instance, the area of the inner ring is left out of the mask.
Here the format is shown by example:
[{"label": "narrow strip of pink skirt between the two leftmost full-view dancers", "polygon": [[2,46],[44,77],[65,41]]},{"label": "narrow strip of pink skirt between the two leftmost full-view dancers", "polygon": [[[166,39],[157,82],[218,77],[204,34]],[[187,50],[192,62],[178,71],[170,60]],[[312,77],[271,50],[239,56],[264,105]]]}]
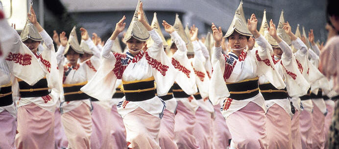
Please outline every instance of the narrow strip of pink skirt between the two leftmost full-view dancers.
[{"label": "narrow strip of pink skirt between the two leftmost full-view dancers", "polygon": [[54,137],[55,137],[55,149],[64,149],[68,146],[65,130],[61,125],[61,113],[59,108],[54,112]]}]

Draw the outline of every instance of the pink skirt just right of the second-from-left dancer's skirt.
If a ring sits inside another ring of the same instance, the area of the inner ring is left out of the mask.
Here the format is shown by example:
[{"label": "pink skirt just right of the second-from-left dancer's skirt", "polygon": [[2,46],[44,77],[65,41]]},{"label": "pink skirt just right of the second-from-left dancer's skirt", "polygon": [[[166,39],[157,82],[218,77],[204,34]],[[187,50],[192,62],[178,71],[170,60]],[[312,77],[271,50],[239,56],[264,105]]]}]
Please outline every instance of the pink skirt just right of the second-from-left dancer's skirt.
[{"label": "pink skirt just right of the second-from-left dancer's skirt", "polygon": [[109,121],[109,112],[96,102],[92,102],[92,134],[91,149],[113,149],[111,145],[111,125]]}]

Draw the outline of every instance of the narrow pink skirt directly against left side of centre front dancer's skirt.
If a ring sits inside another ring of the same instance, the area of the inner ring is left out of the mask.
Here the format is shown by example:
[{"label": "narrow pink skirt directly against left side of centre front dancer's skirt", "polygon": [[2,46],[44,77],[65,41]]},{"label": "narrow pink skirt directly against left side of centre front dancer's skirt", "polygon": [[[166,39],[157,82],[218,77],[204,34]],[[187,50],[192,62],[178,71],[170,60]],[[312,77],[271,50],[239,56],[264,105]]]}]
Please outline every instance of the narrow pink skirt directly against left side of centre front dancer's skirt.
[{"label": "narrow pink skirt directly against left side of centre front dancer's skirt", "polygon": [[122,118],[118,113],[117,106],[113,105],[110,114],[110,122],[111,122],[111,141],[112,141],[112,149],[125,149],[127,148],[126,142],[126,130],[123,125]]}]

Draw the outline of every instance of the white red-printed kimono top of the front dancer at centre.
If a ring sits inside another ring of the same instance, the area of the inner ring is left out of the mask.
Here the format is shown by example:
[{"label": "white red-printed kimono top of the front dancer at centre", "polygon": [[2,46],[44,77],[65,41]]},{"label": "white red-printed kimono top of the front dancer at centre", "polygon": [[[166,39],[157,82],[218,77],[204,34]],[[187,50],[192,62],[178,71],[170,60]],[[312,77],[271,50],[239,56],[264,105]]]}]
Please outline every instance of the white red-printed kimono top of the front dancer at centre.
[{"label": "white red-printed kimono top of the front dancer at centre", "polygon": [[[103,57],[97,73],[81,90],[98,100],[111,99],[117,79],[123,81],[137,81],[154,77],[157,84],[158,96],[166,95],[174,83],[174,67],[170,64],[163,50],[162,40],[155,30],[149,31],[154,44],[145,52],[131,56],[130,53],[112,53],[110,50],[114,41],[108,39],[104,45],[101,56]],[[113,71],[112,71],[113,70]],[[98,88],[97,86],[101,86]],[[105,89],[101,89],[105,88]],[[125,114],[141,107],[153,116],[162,117],[165,103],[157,96],[141,102],[125,101],[117,105],[122,118]]]}]

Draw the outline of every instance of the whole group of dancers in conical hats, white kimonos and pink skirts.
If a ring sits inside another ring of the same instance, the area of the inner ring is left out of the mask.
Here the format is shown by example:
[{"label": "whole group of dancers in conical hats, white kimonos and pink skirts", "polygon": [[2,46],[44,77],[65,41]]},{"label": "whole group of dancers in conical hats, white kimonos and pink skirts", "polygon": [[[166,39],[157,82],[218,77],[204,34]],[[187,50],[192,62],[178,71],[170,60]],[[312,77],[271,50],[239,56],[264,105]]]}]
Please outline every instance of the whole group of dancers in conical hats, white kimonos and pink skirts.
[{"label": "whole group of dancers in conical hats, white kimonos and pink skirts", "polygon": [[173,26],[163,21],[168,50],[156,16],[149,25],[142,5],[124,36],[124,53],[112,50],[125,17],[103,47],[84,28],[79,44],[73,28],[69,38],[60,34],[57,52],[34,10],[21,39],[2,19],[8,38],[1,49],[9,53],[1,62],[7,99],[1,108],[10,127],[4,134],[13,140],[6,148],[52,149],[63,144],[54,143],[61,131],[69,149],[325,148],[334,109],[328,99],[338,93],[317,69],[312,30],[309,45],[305,31],[291,32],[283,13],[276,29],[264,12],[258,31],[254,14],[245,20],[241,2],[224,37],[212,23],[214,47],[178,17]]}]

